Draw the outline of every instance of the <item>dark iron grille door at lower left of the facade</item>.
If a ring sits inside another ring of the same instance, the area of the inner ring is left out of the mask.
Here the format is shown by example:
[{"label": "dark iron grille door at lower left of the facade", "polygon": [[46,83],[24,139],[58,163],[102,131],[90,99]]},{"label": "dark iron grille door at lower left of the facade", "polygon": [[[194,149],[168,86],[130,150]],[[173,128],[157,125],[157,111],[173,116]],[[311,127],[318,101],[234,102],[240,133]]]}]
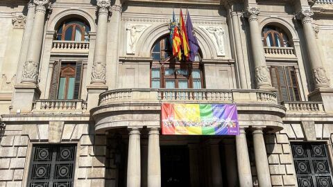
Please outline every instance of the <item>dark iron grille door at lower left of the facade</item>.
[{"label": "dark iron grille door at lower left of the facade", "polygon": [[72,187],[76,145],[33,145],[29,187]]}]

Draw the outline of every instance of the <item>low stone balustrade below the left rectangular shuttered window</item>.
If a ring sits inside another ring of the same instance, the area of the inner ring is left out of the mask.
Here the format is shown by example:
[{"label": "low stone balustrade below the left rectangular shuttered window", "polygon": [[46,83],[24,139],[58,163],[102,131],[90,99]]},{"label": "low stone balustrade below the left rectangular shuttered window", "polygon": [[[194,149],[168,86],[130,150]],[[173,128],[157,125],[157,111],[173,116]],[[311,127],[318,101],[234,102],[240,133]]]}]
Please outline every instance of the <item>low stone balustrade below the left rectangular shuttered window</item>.
[{"label": "low stone balustrade below the left rectangular shuttered window", "polygon": [[87,111],[85,100],[36,100],[33,103],[33,112],[78,112]]}]

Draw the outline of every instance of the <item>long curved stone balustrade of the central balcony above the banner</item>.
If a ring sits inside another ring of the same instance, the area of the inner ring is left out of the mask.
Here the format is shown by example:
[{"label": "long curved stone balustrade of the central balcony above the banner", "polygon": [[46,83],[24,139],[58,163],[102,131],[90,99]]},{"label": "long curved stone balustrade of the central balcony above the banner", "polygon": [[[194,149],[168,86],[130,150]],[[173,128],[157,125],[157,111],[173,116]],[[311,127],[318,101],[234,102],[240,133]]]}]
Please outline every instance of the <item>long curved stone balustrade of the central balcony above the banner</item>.
[{"label": "long curved stone balustrade of the central balcony above the banner", "polygon": [[270,103],[277,104],[276,94],[247,89],[118,89],[99,96],[99,105],[132,102],[182,103]]}]

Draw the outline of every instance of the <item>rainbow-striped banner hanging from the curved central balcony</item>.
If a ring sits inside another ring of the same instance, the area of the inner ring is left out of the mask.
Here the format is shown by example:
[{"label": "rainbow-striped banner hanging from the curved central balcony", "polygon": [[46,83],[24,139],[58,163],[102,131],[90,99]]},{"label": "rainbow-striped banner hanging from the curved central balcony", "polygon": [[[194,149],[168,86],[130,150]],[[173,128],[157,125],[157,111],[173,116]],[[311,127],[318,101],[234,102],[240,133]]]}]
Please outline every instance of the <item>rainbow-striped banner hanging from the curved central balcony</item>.
[{"label": "rainbow-striped banner hanging from the curved central balcony", "polygon": [[239,135],[237,107],[162,103],[162,134]]}]

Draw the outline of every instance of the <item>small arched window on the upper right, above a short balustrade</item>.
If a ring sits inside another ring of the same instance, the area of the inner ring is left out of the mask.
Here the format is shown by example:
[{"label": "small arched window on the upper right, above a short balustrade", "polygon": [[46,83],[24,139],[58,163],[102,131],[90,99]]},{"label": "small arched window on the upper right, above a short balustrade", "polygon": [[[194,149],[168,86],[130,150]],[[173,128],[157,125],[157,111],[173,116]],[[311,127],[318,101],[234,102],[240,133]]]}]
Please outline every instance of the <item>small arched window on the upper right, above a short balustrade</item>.
[{"label": "small arched window on the upper right, above a short balustrade", "polygon": [[289,47],[289,39],[281,28],[276,26],[265,26],[262,29],[264,46],[270,47]]}]

